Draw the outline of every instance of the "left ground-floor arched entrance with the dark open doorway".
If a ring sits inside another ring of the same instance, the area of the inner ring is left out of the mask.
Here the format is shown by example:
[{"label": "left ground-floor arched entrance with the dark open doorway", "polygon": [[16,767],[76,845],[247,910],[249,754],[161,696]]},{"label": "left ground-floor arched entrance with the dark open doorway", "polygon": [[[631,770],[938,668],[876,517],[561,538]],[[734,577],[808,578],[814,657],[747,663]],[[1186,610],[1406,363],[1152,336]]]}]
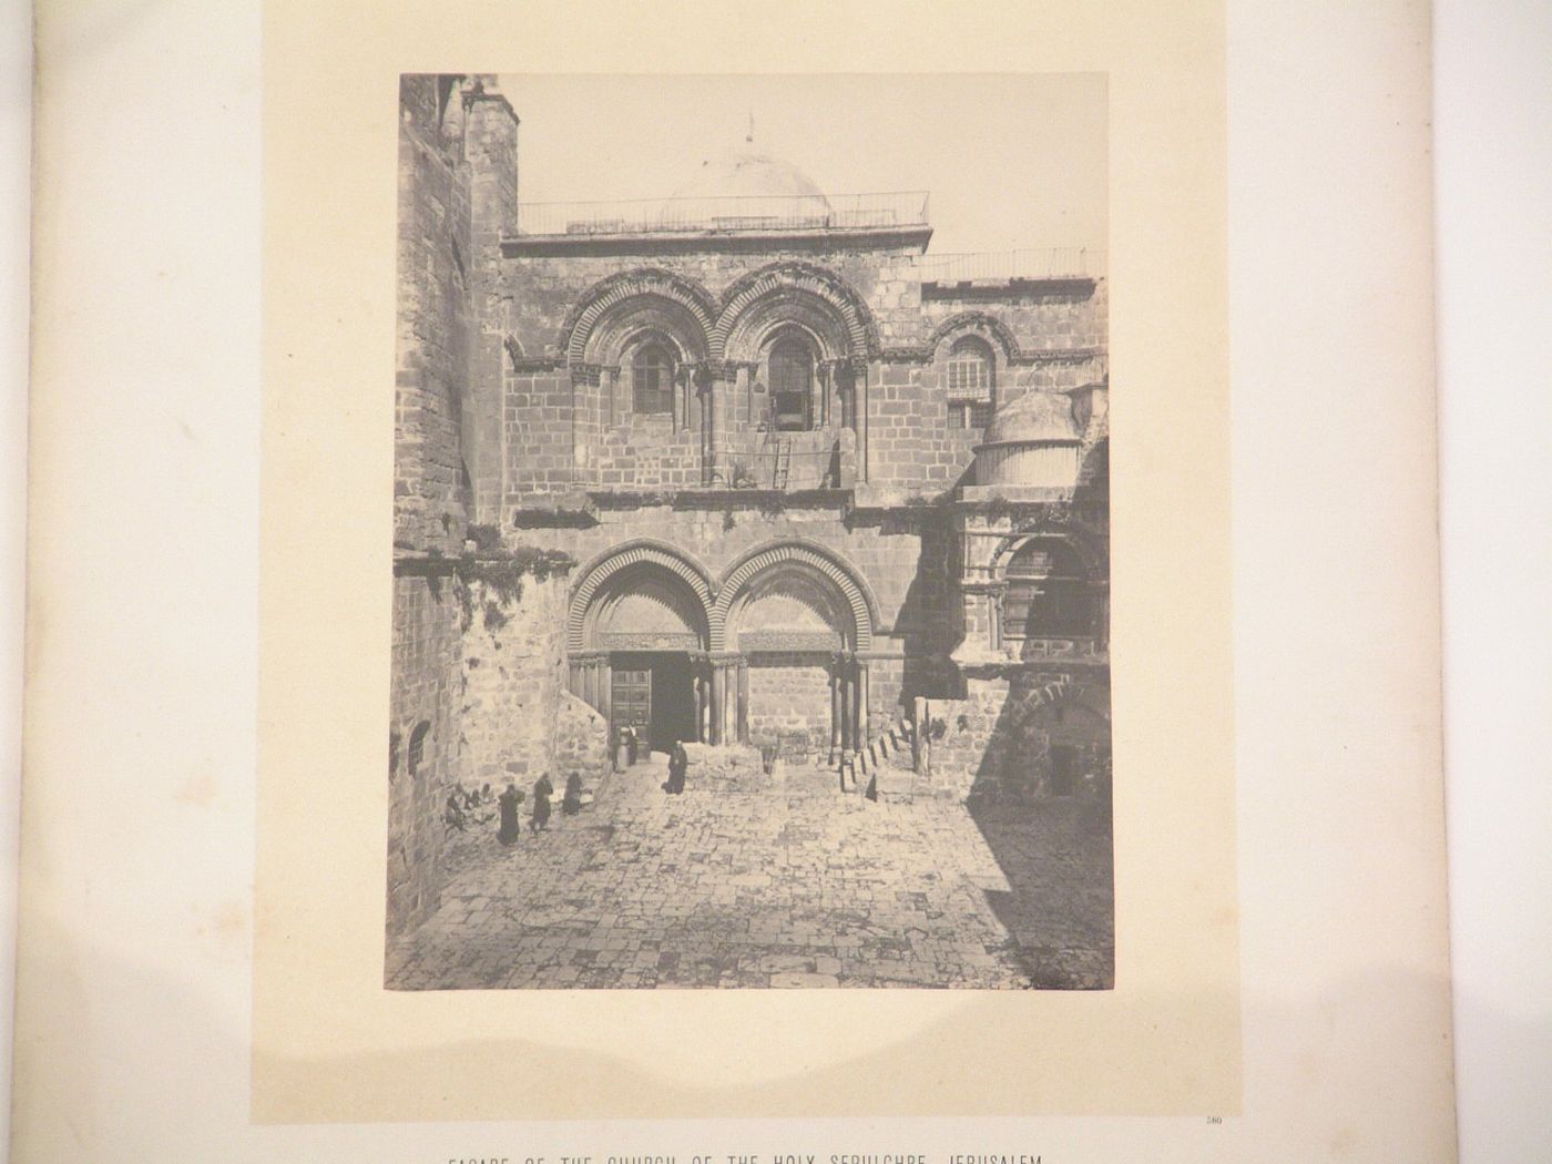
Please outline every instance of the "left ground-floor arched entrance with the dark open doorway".
[{"label": "left ground-floor arched entrance with the dark open doorway", "polygon": [[655,751],[705,739],[711,677],[705,574],[674,549],[621,546],[571,601],[571,689]]}]

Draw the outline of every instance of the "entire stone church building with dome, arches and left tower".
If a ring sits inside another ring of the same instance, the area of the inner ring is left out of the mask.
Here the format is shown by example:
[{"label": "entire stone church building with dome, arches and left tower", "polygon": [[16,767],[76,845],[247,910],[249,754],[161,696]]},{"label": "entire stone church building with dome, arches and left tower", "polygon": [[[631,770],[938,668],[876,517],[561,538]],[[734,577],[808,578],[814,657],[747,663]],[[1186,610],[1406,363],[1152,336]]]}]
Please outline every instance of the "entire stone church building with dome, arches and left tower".
[{"label": "entire stone church building with dome, arches and left tower", "polygon": [[450,788],[610,774],[1058,796],[1110,765],[1099,256],[936,256],[927,194],[753,147],[529,206],[492,78],[399,124],[390,928]]}]

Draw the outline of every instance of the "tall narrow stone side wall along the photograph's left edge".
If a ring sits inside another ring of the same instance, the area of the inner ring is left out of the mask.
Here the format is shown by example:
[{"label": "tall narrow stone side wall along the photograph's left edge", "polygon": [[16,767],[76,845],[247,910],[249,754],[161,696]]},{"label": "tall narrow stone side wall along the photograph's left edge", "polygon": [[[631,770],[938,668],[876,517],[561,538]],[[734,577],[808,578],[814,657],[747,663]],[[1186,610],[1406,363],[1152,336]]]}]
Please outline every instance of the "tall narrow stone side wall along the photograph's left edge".
[{"label": "tall narrow stone side wall along the photograph's left edge", "polygon": [[439,902],[441,805],[462,774],[456,584],[445,571],[410,566],[456,553],[469,509],[459,428],[469,396],[470,203],[455,92],[455,81],[435,76],[407,76],[399,92],[390,931],[417,923]]}]

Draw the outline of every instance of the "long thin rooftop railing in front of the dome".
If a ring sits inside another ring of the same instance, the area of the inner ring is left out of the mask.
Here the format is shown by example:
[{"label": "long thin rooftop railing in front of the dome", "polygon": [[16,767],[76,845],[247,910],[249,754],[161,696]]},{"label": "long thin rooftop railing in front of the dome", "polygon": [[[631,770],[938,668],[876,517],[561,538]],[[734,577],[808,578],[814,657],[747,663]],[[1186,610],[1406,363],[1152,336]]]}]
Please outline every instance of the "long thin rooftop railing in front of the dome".
[{"label": "long thin rooftop railing in front of the dome", "polygon": [[646,234],[925,227],[927,191],[792,194],[635,202],[531,202],[518,234]]}]

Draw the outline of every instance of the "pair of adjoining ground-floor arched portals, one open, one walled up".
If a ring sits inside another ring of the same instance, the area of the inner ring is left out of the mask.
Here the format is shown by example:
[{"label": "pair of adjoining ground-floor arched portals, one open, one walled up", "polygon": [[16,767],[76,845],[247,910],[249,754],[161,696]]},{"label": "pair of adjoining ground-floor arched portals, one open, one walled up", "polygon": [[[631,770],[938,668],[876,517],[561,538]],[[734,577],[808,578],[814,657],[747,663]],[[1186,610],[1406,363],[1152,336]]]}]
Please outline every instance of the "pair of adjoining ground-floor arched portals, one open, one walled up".
[{"label": "pair of adjoining ground-floor arched portals, one open, one walled up", "polygon": [[874,604],[830,551],[776,542],[720,580],[683,551],[632,542],[571,596],[571,689],[653,750],[678,740],[835,754],[868,737]]}]

